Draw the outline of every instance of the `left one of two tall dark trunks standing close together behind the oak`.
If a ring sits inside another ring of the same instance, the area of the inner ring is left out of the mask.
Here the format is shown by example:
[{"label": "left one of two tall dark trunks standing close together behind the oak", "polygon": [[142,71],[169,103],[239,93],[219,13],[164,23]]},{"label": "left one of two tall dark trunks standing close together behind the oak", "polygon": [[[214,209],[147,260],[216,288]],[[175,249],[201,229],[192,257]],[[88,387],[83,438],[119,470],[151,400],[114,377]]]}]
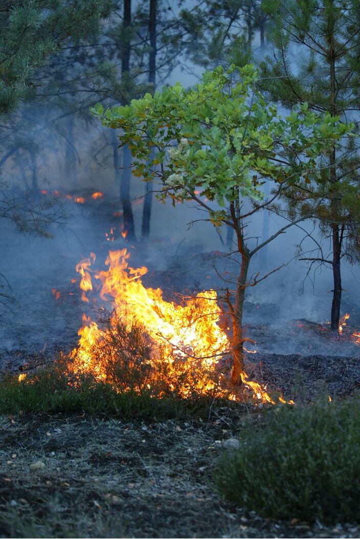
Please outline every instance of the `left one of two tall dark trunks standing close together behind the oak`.
[{"label": "left one of two tall dark trunks standing close together behind the oak", "polygon": [[[124,30],[124,39],[122,43],[122,61],[121,61],[121,72],[122,75],[130,71],[130,36],[127,33],[128,27],[131,25],[131,0],[124,0],[124,11],[123,11],[123,30]],[[114,148],[114,165],[117,163],[117,157],[115,157]],[[135,241],[135,224],[134,217],[132,213],[132,206],[130,201],[130,183],[131,183],[131,162],[132,156],[131,151],[128,146],[123,148],[123,163],[122,171],[120,177],[120,201],[123,208],[123,223],[124,223],[124,232],[127,234],[127,238],[130,241]],[[115,175],[117,173],[115,172]]]}]

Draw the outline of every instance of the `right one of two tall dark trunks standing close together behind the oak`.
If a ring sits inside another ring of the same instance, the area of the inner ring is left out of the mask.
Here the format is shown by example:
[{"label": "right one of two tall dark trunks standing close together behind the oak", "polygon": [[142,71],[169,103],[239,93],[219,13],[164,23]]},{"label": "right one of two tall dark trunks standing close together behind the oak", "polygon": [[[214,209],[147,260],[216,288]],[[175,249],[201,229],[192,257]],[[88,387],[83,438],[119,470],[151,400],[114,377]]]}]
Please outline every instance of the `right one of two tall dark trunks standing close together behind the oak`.
[{"label": "right one of two tall dark trunks standing close together behind the oak", "polygon": [[[156,10],[157,0],[150,0],[149,37],[151,50],[149,54],[149,82],[152,84],[153,91],[156,86]],[[149,238],[150,236],[151,207],[152,182],[147,182],[143,207],[142,238]]]}]

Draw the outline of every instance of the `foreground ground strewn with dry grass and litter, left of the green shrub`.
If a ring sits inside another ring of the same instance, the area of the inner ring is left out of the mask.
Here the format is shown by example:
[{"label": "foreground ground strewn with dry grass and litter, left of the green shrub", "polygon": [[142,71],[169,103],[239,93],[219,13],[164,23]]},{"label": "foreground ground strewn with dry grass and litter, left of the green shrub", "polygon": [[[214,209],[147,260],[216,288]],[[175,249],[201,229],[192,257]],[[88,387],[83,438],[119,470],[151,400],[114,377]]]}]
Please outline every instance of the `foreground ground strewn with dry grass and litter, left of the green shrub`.
[{"label": "foreground ground strewn with dry grass and litter, left of the green shrub", "polygon": [[241,405],[208,421],[3,416],[0,536],[359,537],[351,524],[262,519],[218,495],[211,472],[248,414]]}]

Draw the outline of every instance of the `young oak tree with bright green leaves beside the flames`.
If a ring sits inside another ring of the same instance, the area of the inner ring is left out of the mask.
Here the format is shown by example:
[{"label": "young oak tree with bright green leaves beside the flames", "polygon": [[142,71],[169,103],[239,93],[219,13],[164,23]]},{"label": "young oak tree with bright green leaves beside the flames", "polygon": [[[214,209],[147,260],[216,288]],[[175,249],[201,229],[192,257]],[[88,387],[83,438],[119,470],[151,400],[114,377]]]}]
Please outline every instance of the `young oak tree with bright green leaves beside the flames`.
[{"label": "young oak tree with bright green leaves beside the flames", "polygon": [[[160,199],[170,197],[173,204],[193,201],[214,226],[226,224],[234,229],[239,273],[235,291],[227,289],[223,296],[232,320],[234,384],[241,382],[243,345],[249,340],[242,327],[246,289],[273,273],[249,277],[251,258],[290,226],[312,215],[318,201],[258,243],[249,237],[246,220],[273,203],[303,174],[317,177],[319,155],[349,129],[338,118],[316,115],[306,106],[281,118],[257,91],[257,78],[252,65],[238,73],[234,65],[227,72],[217,67],[204,73],[201,84],[193,88],[178,83],[125,107],[104,111],[97,105],[92,110],[104,126],[122,129],[119,140],[129,145],[134,157],[133,174],[145,181],[157,178]],[[279,158],[287,146],[297,156],[288,162],[286,157]],[[275,191],[269,199],[262,195],[266,182]]]}]

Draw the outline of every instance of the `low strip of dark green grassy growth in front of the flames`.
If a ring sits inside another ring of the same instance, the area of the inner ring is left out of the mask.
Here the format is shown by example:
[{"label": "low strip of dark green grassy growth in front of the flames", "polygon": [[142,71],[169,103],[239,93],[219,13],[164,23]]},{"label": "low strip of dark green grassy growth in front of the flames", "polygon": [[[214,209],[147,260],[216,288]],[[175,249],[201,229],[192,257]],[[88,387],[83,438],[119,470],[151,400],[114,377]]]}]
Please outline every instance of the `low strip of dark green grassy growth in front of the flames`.
[{"label": "low strip of dark green grassy growth in front of the flames", "polygon": [[91,375],[75,376],[67,371],[66,362],[56,362],[22,382],[5,375],[0,381],[0,413],[83,413],[111,416],[124,420],[207,417],[209,399],[194,401],[176,397],[154,398],[150,391],[140,395],[119,391],[107,382],[97,382]]}]

